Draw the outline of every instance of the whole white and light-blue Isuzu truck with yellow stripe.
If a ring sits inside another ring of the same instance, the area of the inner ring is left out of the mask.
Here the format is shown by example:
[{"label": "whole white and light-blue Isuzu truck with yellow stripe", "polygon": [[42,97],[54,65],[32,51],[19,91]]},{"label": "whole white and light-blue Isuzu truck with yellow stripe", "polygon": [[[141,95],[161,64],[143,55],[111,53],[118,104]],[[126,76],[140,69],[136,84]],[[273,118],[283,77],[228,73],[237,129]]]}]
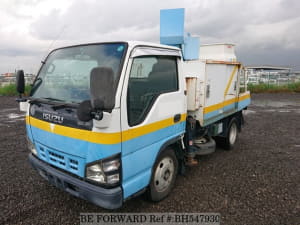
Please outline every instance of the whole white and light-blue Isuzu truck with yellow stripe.
[{"label": "whole white and light-blue Isuzu truck with yellow stripe", "polygon": [[194,156],[233,148],[250,104],[234,45],[200,46],[184,9],[160,16],[161,44],[51,51],[29,97],[18,71],[29,162],[51,184],[107,209],[144,191],[159,201]]}]

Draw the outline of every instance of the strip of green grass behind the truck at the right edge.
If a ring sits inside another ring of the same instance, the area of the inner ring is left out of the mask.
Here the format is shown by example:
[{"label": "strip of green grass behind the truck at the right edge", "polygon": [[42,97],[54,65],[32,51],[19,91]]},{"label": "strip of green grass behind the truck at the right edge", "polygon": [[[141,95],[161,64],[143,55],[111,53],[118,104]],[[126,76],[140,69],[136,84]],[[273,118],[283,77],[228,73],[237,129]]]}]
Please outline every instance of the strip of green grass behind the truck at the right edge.
[{"label": "strip of green grass behind the truck at the right edge", "polygon": [[285,85],[248,84],[248,90],[252,93],[300,92],[300,82]]}]

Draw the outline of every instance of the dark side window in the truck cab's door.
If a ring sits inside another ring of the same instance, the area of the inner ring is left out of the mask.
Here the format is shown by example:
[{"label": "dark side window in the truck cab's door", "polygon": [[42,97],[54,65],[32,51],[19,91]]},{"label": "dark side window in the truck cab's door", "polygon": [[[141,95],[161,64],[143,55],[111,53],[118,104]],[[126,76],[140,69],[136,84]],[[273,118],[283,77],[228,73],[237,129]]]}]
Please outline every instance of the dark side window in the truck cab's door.
[{"label": "dark side window in the truck cab's door", "polygon": [[144,121],[156,98],[178,90],[177,58],[143,56],[133,60],[127,92],[130,126]]}]

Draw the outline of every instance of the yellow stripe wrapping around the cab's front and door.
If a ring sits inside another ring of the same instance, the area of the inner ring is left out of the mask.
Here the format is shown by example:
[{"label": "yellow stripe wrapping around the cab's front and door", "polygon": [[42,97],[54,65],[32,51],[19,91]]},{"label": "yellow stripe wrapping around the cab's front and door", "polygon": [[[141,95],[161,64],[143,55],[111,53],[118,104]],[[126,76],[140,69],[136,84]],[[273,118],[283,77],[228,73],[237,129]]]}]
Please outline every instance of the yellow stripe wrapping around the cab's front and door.
[{"label": "yellow stripe wrapping around the cab's front and door", "polygon": [[[185,120],[186,114],[182,114],[180,122]],[[122,139],[123,141],[128,141],[130,139],[174,125],[173,118],[169,118],[142,127],[137,127],[127,131],[123,131],[122,133],[98,133],[72,127],[65,127],[58,124],[55,124],[53,128],[51,128],[51,123],[29,116],[26,116],[26,123],[50,133],[55,133],[65,137],[75,138],[96,144],[118,144],[121,142]]]}]

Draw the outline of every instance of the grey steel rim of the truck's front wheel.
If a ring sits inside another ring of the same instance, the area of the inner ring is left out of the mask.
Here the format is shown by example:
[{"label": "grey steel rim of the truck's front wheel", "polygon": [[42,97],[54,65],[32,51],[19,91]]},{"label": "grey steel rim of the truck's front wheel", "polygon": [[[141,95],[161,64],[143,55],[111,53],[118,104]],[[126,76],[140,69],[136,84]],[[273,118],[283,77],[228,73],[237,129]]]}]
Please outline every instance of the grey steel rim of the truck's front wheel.
[{"label": "grey steel rim of the truck's front wheel", "polygon": [[156,167],[154,186],[157,192],[163,192],[170,186],[174,176],[174,161],[170,157],[163,158]]}]

